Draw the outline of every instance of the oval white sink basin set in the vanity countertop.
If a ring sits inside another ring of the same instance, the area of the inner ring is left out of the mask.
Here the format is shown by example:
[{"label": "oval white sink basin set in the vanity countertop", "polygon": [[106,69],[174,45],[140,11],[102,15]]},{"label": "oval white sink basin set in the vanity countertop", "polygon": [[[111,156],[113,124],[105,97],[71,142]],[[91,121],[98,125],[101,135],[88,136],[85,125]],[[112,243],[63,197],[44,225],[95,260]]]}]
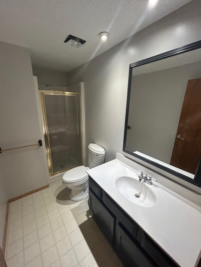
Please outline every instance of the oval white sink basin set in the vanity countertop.
[{"label": "oval white sink basin set in the vanity countertop", "polygon": [[120,197],[141,207],[155,206],[158,194],[163,195],[159,187],[139,182],[138,175],[134,172],[118,172],[112,177],[111,182]]}]

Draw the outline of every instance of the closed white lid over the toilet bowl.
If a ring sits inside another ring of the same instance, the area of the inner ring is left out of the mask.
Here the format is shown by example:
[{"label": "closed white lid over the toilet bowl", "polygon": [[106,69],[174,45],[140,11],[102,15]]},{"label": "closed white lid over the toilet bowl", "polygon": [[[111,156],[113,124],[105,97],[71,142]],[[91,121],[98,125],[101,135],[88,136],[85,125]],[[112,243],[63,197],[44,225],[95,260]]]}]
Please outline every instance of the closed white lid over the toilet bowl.
[{"label": "closed white lid over the toilet bowl", "polygon": [[79,182],[88,176],[86,171],[85,166],[78,166],[65,172],[62,179],[65,182]]}]

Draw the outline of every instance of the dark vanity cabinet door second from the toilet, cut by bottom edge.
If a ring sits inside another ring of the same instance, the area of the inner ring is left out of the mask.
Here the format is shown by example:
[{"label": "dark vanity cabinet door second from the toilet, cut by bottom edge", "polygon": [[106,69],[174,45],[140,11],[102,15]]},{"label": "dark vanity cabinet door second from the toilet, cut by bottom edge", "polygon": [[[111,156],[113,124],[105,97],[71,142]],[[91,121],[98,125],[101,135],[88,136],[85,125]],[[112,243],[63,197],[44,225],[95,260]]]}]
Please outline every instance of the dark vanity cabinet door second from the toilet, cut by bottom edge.
[{"label": "dark vanity cabinet door second from the toilet, cut by bottom edge", "polygon": [[117,254],[127,267],[153,267],[155,265],[139,248],[121,223],[117,229]]}]

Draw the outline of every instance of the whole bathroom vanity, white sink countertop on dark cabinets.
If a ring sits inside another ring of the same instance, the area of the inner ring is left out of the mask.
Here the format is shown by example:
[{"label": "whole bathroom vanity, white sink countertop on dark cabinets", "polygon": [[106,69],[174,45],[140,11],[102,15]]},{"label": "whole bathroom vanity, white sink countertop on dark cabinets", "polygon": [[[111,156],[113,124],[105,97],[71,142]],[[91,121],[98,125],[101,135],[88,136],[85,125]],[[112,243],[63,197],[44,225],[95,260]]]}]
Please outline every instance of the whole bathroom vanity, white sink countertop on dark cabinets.
[{"label": "whole bathroom vanity, white sink countertop on dark cabinets", "polygon": [[201,208],[157,181],[140,183],[140,167],[117,153],[87,171],[90,214],[125,266],[197,266]]}]

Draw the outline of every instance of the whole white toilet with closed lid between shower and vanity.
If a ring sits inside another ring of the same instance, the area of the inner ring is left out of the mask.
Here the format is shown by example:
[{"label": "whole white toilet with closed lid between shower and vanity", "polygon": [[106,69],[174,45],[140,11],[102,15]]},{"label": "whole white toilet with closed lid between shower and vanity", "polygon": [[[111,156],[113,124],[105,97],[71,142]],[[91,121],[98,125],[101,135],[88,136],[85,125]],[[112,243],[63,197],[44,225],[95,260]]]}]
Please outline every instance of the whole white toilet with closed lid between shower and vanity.
[{"label": "whole white toilet with closed lid between shower and vanity", "polygon": [[89,167],[78,166],[64,173],[62,183],[71,189],[70,199],[72,201],[80,201],[89,196],[89,175],[86,171],[103,164],[104,159],[104,148],[96,144],[89,144]]}]

